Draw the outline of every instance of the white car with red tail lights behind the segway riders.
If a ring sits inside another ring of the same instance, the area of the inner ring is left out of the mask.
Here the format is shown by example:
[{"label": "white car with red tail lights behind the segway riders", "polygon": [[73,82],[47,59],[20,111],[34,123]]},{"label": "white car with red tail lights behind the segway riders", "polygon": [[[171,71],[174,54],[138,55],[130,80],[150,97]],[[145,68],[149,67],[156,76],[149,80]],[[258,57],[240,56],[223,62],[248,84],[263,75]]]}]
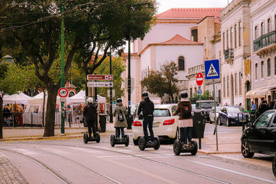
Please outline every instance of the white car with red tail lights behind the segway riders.
[{"label": "white car with red tail lights behind the segway riders", "polygon": [[[152,130],[155,136],[160,139],[176,139],[178,134],[178,118],[179,116],[172,116],[172,113],[177,110],[177,104],[155,105],[153,112]],[[133,143],[138,145],[140,136],[144,136],[143,120],[135,117],[132,125]],[[148,136],[150,132],[148,131]]]}]

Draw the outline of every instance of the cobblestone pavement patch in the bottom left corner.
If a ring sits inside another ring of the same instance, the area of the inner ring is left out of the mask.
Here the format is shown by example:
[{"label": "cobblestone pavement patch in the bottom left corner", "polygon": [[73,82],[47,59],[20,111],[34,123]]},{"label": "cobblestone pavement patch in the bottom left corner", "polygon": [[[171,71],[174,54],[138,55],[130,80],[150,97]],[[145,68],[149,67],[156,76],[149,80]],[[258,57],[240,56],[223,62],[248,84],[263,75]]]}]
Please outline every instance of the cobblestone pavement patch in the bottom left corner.
[{"label": "cobblestone pavement patch in the bottom left corner", "polygon": [[0,183],[28,183],[12,163],[0,154]]}]

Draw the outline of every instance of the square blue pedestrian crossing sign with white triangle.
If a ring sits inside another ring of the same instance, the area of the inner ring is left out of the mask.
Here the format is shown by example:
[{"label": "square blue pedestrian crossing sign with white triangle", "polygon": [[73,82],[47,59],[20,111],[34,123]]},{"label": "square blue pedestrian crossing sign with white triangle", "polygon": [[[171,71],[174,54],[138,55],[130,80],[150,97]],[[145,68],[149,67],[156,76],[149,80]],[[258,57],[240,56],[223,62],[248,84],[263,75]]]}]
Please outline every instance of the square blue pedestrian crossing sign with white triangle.
[{"label": "square blue pedestrian crossing sign with white triangle", "polygon": [[208,60],[204,62],[205,67],[205,79],[219,79],[219,60]]}]

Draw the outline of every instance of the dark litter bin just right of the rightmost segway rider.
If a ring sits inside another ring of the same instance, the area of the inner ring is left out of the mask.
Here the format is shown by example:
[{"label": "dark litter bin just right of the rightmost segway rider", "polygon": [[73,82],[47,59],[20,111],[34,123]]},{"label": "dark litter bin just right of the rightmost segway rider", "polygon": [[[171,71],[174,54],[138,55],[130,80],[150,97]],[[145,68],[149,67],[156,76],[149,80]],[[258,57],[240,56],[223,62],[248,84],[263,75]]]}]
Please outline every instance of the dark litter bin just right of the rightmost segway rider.
[{"label": "dark litter bin just right of the rightmost segway rider", "polygon": [[193,110],[193,128],[192,136],[193,138],[198,139],[204,138],[205,122],[206,116],[204,115],[204,110]]}]

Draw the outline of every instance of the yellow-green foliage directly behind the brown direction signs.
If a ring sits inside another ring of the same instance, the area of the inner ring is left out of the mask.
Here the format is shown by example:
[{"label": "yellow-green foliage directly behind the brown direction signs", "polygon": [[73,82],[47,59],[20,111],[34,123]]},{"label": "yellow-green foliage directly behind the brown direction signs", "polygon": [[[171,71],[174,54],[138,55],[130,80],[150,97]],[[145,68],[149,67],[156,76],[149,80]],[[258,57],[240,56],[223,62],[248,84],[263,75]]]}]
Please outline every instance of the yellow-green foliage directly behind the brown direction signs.
[{"label": "yellow-green foliage directly behind the brown direction signs", "polygon": [[[121,88],[121,83],[124,81],[124,79],[121,78],[121,73],[123,73],[125,70],[126,70],[126,65],[124,65],[124,62],[121,57],[112,58],[112,75],[113,75],[112,90],[115,90],[116,98],[121,98],[122,96],[124,96],[124,88]],[[101,63],[101,65],[97,68],[97,70],[95,70],[95,73],[110,74],[109,57],[105,59],[103,63]],[[98,94],[109,98],[110,96],[107,96],[107,90],[110,90],[110,88],[98,88]]]}]

